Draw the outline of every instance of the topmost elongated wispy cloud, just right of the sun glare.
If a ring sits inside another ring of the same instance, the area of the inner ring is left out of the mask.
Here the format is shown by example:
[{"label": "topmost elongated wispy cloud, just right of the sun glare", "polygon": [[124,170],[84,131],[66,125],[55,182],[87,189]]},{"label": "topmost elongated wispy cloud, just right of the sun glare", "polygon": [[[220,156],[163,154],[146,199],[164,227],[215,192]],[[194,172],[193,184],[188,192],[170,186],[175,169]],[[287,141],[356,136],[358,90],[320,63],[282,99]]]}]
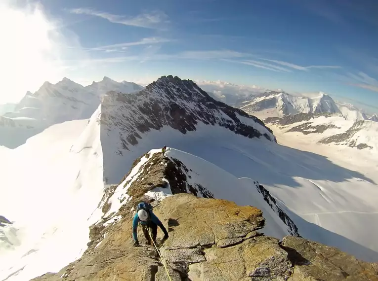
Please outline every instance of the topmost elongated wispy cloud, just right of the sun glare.
[{"label": "topmost elongated wispy cloud, just right of the sun glare", "polygon": [[133,17],[114,15],[107,12],[93,10],[90,8],[77,8],[70,10],[70,12],[74,14],[85,14],[100,17],[112,23],[150,29],[159,29],[162,27],[162,24],[169,23],[167,14],[165,14],[162,11],[153,11],[151,13],[144,13]]}]

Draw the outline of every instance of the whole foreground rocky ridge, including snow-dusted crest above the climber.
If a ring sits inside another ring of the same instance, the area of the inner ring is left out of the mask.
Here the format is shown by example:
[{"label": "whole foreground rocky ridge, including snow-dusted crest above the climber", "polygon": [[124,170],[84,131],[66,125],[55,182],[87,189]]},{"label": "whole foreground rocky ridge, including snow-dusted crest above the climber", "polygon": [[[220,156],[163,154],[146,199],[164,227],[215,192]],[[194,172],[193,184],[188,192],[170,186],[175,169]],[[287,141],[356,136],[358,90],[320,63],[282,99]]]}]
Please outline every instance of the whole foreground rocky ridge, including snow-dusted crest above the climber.
[{"label": "whole foreground rocky ridge, including snow-dusted crest above the climber", "polygon": [[[168,280],[164,265],[173,281],[378,280],[376,264],[336,248],[293,236],[280,242],[258,233],[265,224],[260,210],[213,199],[207,186],[188,186],[182,171],[182,164],[161,153],[137,159],[120,185],[104,193],[98,206],[104,215],[90,227],[83,256],[58,273],[33,280],[163,281]],[[207,198],[182,193],[188,190]],[[162,191],[166,195],[159,197]],[[117,209],[115,197],[121,203]],[[145,245],[140,228],[143,245],[132,246],[131,219],[142,200],[155,206],[168,229],[165,242],[158,232],[162,258],[153,246]]]}]

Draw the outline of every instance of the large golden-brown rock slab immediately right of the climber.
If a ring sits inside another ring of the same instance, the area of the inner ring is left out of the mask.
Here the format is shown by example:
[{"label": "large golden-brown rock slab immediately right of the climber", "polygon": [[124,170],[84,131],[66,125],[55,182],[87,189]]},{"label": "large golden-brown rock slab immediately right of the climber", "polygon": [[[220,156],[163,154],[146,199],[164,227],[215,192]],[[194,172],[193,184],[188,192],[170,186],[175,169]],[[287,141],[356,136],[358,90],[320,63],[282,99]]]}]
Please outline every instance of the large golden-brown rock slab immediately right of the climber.
[{"label": "large golden-brown rock slab immediately right of the climber", "polygon": [[[172,224],[165,248],[192,248],[216,244],[223,239],[247,236],[263,227],[262,212],[254,207],[191,194],[166,198],[160,212]],[[168,226],[169,226],[168,221]]]}]

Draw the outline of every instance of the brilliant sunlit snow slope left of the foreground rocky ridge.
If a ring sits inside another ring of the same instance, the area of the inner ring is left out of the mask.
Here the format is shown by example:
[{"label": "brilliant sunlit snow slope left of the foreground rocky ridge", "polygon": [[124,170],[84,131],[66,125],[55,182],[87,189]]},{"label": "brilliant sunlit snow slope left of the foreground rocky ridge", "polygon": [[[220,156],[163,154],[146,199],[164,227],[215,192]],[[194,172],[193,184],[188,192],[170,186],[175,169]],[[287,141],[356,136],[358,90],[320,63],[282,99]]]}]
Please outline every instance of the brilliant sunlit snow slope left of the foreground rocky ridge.
[{"label": "brilliant sunlit snow slope left of the foreground rocky ridge", "polygon": [[[5,235],[18,241],[1,245],[0,280],[57,271],[86,249],[104,188],[101,145],[86,143],[99,125],[87,121],[53,125],[14,150],[0,150],[0,213],[14,221],[16,231]],[[85,127],[90,136],[80,139]],[[78,150],[70,151],[75,142]]]}]

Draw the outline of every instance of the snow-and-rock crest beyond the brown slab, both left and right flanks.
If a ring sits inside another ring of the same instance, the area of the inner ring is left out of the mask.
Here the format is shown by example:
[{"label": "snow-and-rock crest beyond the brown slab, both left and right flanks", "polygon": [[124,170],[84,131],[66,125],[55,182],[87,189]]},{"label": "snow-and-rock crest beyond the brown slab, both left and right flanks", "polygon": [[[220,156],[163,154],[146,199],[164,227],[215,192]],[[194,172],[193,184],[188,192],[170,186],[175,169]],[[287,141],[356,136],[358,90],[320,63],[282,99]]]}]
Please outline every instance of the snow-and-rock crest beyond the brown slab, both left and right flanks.
[{"label": "snow-and-rock crest beyond the brown slab, both left and right flanks", "polygon": [[[202,198],[227,198],[236,204],[252,205],[264,213],[264,234],[278,238],[288,234],[299,236],[293,220],[258,182],[251,178],[238,179],[200,157],[177,149],[168,148],[165,155],[160,151],[153,149],[137,159],[122,182],[109,189],[98,206],[104,214],[94,228],[103,229],[117,223],[124,216],[123,206],[138,196],[135,190],[147,188],[144,193],[147,201],[161,201],[173,194],[191,193]],[[156,175],[157,171],[160,176],[151,176],[150,173]],[[146,182],[155,180],[151,188],[145,186],[145,178],[148,178]],[[103,237],[92,239],[92,244],[97,247]]]}]

